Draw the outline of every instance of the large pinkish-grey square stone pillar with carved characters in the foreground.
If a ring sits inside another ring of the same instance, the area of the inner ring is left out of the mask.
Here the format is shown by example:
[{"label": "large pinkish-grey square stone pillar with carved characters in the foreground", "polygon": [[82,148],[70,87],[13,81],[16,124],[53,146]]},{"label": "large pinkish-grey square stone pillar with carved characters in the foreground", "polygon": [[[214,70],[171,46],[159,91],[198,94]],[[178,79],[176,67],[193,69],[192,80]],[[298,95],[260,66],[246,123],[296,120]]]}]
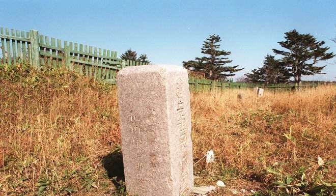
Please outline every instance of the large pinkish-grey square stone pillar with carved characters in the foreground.
[{"label": "large pinkish-grey square stone pillar with carved characters in the foreground", "polygon": [[127,67],[117,75],[126,190],[138,196],[189,195],[193,187],[187,70]]}]

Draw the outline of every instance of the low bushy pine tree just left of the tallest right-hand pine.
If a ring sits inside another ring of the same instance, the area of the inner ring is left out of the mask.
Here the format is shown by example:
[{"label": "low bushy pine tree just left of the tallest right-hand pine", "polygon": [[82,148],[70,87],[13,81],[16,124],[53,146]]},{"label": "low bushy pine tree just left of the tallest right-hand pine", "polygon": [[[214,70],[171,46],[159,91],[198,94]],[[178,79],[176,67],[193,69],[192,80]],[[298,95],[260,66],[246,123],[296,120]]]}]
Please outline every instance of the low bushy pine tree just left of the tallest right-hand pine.
[{"label": "low bushy pine tree just left of the tallest right-hand pine", "polygon": [[281,83],[288,82],[292,76],[285,64],[272,55],[266,55],[263,66],[245,74],[249,82]]}]

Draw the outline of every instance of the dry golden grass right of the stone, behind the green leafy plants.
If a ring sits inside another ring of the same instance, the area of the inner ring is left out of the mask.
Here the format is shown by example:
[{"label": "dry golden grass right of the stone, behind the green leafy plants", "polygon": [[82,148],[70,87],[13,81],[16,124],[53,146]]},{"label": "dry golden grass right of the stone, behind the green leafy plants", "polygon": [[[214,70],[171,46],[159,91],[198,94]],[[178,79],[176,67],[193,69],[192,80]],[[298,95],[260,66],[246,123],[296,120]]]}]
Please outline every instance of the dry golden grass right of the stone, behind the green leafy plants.
[{"label": "dry golden grass right of the stone, behind the green leafy plants", "polygon": [[[297,173],[301,166],[306,176],[316,178],[318,156],[336,158],[335,90],[334,86],[321,86],[297,92],[266,91],[262,98],[249,90],[192,94],[194,157],[202,157],[210,149],[216,155],[214,165],[207,166],[204,161],[195,165],[195,173],[204,177],[199,183],[219,178],[246,188],[239,182],[243,178],[265,188],[275,180],[267,169],[286,176]],[[238,93],[243,95],[242,101],[237,99]],[[284,136],[290,129],[293,142]],[[323,178],[334,182],[335,176],[332,167]]]}]

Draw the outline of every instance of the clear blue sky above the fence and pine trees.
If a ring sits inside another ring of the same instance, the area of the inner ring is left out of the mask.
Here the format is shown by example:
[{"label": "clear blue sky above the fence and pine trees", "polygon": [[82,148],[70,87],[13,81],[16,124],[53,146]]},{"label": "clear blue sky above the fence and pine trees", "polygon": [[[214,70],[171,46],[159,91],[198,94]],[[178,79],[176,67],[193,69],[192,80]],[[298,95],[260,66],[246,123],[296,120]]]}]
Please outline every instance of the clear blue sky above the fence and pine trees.
[{"label": "clear blue sky above the fence and pine trees", "polygon": [[[118,51],[146,53],[152,63],[182,65],[201,57],[203,41],[218,34],[231,65],[260,67],[284,33],[296,29],[336,44],[336,1],[4,1],[0,26]],[[336,58],[328,61],[336,62]],[[320,65],[325,65],[326,62]],[[327,74],[304,79],[334,80]]]}]

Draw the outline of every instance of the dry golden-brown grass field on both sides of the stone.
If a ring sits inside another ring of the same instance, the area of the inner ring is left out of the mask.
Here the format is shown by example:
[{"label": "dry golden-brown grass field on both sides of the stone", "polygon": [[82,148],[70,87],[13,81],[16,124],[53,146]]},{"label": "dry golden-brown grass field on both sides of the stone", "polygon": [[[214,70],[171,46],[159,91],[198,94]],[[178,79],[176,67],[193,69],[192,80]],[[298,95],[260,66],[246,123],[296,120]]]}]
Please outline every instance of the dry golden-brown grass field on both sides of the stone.
[{"label": "dry golden-brown grass field on both sides of the stone", "polygon": [[[335,103],[335,86],[191,93],[195,184],[225,182],[212,196],[335,194]],[[126,195],[113,178],[122,165],[115,87],[1,65],[0,127],[0,195]],[[214,163],[202,158],[208,150]]]}]

